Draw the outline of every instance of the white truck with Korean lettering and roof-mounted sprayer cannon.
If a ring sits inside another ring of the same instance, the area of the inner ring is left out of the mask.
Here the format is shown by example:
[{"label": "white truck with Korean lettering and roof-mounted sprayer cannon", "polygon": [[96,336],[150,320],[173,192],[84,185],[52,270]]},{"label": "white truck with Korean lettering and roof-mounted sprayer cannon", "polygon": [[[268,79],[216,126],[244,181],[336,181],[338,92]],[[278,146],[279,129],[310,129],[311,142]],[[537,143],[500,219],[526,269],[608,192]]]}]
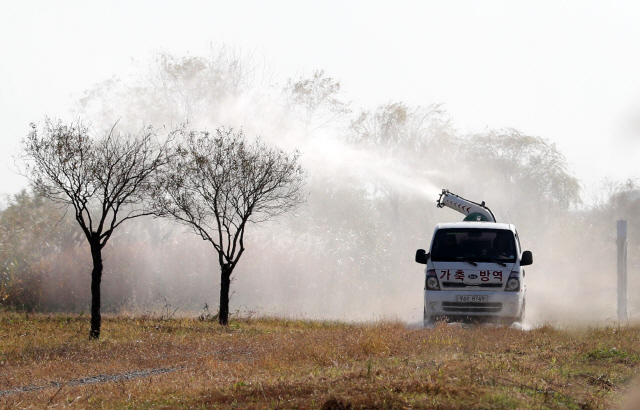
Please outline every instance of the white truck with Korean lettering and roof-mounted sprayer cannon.
[{"label": "white truck with Korean lettering and roof-mounted sprayer cannon", "polygon": [[425,269],[424,321],[438,318],[490,318],[522,322],[525,312],[524,266],[533,263],[522,251],[516,227],[497,223],[484,202],[464,199],[446,189],[438,208],[463,215],[462,222],[436,226],[429,253],[416,252]]}]

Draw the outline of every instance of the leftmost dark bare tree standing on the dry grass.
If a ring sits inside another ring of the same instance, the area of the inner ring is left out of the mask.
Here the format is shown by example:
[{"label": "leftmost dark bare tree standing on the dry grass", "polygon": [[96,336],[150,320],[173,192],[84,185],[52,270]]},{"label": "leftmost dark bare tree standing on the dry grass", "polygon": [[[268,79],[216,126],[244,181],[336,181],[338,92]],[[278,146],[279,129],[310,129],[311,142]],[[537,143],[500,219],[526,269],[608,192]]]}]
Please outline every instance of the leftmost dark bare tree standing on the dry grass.
[{"label": "leftmost dark bare tree standing on the dry grass", "polygon": [[169,162],[171,138],[159,144],[156,137],[152,128],[131,135],[117,133],[114,126],[94,138],[82,121],[67,125],[46,119],[41,132],[32,124],[22,141],[25,174],[35,191],[71,206],[89,242],[91,339],[100,337],[102,249],[124,221],[149,215],[146,198]]}]

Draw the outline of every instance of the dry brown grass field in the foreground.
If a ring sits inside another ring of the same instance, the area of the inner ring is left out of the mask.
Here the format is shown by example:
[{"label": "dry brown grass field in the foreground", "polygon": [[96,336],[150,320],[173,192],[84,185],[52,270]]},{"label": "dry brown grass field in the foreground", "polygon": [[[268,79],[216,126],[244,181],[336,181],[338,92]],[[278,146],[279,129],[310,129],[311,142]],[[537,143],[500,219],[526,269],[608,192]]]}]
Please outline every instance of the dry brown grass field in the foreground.
[{"label": "dry brown grass field in the foreground", "polygon": [[609,409],[640,367],[640,326],[106,317],[99,341],[88,329],[0,313],[0,407]]}]

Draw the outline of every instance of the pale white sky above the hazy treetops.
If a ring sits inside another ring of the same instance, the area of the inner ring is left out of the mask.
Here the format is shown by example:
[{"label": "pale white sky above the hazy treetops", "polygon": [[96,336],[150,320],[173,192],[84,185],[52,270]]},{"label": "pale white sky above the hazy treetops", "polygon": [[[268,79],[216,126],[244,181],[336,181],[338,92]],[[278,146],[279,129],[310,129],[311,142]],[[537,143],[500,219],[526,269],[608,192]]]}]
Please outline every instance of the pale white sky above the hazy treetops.
[{"label": "pale white sky above the hazy treetops", "polygon": [[637,1],[0,0],[0,193],[31,121],[153,51],[229,44],[296,77],[342,82],[355,107],[444,103],[461,131],[555,143],[587,189],[640,177]]}]

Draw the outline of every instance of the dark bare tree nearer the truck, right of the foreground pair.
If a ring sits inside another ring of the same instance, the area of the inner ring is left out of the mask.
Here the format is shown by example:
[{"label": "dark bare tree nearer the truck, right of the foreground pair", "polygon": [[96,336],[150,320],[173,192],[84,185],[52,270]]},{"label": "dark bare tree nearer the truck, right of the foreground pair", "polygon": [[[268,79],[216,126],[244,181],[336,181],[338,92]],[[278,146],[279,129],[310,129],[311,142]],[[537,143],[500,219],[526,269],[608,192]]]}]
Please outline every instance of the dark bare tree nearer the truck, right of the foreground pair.
[{"label": "dark bare tree nearer the truck, right of the foreground pair", "polygon": [[220,264],[219,322],[227,325],[231,274],[244,248],[247,224],[289,212],[306,200],[297,152],[247,142],[242,131],[185,133],[155,196],[158,216],[190,227],[208,241]]}]

